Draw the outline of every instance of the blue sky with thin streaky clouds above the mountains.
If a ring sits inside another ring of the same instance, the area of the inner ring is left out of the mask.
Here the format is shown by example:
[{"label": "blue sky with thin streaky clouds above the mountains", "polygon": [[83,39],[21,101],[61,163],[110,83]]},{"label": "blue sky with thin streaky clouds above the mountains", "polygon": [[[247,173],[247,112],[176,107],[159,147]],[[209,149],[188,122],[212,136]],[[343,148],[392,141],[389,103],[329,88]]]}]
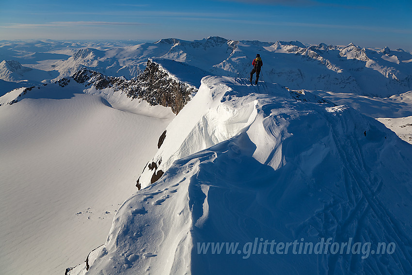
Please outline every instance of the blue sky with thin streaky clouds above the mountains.
[{"label": "blue sky with thin streaky clouds above the mountains", "polygon": [[233,40],[412,51],[412,0],[0,0],[0,40]]}]

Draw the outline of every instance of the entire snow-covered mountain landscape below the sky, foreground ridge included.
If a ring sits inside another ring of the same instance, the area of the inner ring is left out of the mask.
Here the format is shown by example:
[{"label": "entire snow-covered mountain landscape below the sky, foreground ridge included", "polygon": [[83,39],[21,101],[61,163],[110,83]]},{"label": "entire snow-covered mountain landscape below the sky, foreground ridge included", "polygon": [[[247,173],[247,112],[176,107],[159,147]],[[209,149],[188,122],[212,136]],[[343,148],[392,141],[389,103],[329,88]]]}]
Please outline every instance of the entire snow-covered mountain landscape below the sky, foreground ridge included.
[{"label": "entire snow-covered mountain landscape below the sky, foreground ridge included", "polygon": [[[411,53],[209,37],[0,57],[4,274],[412,272]],[[328,239],[362,249],[268,252]]]}]

